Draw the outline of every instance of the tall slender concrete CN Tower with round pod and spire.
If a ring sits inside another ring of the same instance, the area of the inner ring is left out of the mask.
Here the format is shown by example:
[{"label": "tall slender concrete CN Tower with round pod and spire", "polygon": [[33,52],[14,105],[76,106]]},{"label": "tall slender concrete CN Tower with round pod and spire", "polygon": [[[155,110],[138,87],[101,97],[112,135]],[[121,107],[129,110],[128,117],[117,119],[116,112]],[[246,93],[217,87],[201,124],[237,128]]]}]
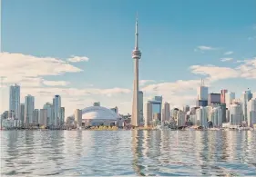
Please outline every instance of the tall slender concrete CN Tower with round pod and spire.
[{"label": "tall slender concrete CN Tower with round pod and spire", "polygon": [[133,83],[133,103],[132,103],[132,117],[131,125],[139,126],[138,117],[138,60],[141,57],[141,53],[138,49],[138,18],[136,18],[135,26],[135,48],[132,51],[132,58],[134,59],[134,83]]}]

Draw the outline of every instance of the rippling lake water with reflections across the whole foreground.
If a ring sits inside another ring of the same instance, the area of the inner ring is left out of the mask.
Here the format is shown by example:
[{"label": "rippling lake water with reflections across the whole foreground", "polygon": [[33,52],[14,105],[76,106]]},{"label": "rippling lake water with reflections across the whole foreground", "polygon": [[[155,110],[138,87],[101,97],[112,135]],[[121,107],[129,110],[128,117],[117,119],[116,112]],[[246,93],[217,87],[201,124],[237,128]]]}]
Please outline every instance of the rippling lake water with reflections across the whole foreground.
[{"label": "rippling lake water with reflections across the whole foreground", "polygon": [[2,131],[1,175],[256,176],[252,131]]}]

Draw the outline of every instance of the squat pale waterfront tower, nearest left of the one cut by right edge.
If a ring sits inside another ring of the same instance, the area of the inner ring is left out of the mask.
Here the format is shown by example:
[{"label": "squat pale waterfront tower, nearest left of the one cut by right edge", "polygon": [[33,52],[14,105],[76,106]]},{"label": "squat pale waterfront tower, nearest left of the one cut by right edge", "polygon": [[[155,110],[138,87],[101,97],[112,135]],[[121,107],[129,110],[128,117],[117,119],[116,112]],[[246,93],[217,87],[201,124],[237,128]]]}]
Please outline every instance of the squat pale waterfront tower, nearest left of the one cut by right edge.
[{"label": "squat pale waterfront tower, nearest left of the one cut by right edge", "polygon": [[230,104],[230,125],[240,125],[242,121],[242,106],[240,103]]}]

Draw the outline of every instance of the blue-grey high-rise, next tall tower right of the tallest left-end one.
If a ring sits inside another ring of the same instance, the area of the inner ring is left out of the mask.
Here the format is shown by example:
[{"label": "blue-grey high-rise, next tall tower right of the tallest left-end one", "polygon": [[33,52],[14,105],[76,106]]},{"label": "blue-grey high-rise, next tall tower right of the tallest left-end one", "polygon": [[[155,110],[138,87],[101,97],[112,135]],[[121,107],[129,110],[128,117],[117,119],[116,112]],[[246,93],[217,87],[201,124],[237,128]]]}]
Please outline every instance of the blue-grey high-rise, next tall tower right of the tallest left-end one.
[{"label": "blue-grey high-rise, next tall tower right of the tallest left-end one", "polygon": [[25,97],[25,123],[26,126],[34,124],[34,109],[35,109],[35,98],[28,94]]}]

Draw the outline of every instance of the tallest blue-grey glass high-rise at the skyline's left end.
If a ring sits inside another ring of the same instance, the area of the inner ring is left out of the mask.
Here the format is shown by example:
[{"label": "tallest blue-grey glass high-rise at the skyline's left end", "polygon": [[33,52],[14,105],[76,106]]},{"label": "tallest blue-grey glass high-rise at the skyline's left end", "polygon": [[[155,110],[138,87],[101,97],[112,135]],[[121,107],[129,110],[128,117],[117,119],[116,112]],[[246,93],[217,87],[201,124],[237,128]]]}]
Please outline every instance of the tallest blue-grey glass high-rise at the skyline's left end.
[{"label": "tallest blue-grey glass high-rise at the skyline's left end", "polygon": [[20,86],[14,84],[10,86],[9,93],[9,112],[12,113],[12,117],[20,119]]}]

